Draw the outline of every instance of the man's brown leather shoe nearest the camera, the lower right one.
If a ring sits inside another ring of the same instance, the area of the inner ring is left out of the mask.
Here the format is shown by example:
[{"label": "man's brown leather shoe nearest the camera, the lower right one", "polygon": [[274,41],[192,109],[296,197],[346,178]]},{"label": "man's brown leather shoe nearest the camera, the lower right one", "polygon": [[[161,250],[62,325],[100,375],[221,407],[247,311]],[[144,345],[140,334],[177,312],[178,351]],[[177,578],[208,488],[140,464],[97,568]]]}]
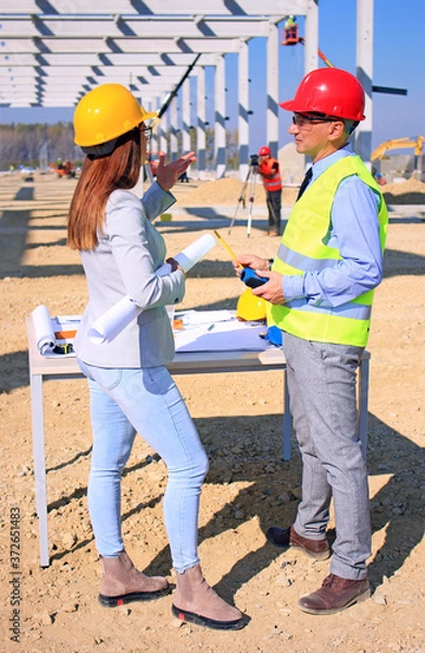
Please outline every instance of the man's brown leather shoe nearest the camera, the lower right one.
[{"label": "man's brown leather shoe nearest the camera, the lower right one", "polygon": [[333,615],[354,603],[365,601],[370,595],[367,578],[349,580],[329,574],[317,591],[299,600],[298,607],[311,615]]}]

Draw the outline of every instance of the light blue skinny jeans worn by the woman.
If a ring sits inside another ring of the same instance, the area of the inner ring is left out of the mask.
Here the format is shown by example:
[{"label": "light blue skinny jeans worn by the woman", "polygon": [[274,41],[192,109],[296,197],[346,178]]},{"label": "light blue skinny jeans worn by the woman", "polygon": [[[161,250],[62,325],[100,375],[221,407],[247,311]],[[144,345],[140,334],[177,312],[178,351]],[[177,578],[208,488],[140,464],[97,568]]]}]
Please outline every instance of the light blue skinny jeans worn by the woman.
[{"label": "light blue skinny jeans worn by the woman", "polygon": [[99,553],[124,549],[121,476],[138,432],[168,470],[164,519],[173,566],[199,563],[198,513],[208,457],[186,404],[165,367],[109,369],[78,360],[88,379],[93,433],[88,507]]}]

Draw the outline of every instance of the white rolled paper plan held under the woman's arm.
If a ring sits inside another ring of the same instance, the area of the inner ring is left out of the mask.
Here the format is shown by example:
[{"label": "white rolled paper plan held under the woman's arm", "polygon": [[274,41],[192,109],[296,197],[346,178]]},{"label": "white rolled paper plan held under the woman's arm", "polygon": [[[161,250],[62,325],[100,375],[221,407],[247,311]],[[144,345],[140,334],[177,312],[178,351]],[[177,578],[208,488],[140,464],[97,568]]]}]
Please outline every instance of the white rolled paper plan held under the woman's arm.
[{"label": "white rolled paper plan held under the woman's arm", "polygon": [[[214,247],[214,236],[204,234],[188,245],[179,254],[176,254],[173,258],[177,261],[184,272],[188,272],[190,268]],[[155,270],[158,276],[164,276],[171,272],[172,267],[170,263],[164,263],[161,268]],[[128,295],[126,295],[91,324],[88,332],[90,342],[92,342],[93,345],[112,342],[114,337],[116,337],[123,329],[128,326],[140,312],[141,309],[136,306]]]}]

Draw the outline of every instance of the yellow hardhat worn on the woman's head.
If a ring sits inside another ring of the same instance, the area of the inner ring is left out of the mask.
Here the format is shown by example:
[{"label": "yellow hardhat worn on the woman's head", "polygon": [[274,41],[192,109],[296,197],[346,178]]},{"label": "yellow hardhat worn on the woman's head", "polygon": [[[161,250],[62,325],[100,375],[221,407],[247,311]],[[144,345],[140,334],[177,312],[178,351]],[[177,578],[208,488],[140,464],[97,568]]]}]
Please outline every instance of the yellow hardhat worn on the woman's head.
[{"label": "yellow hardhat worn on the woman's head", "polygon": [[74,113],[74,140],[87,148],[103,145],[157,115],[157,111],[145,111],[125,86],[102,84],[79,100]]}]

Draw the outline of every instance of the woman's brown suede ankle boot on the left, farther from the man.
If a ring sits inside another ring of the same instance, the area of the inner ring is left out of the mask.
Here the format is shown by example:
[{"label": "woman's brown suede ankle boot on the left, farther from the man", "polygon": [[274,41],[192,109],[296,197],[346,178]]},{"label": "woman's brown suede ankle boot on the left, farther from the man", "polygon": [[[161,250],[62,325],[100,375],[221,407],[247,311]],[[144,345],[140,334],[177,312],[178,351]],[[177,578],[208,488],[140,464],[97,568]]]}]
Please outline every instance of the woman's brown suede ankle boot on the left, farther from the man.
[{"label": "woman's brown suede ankle boot on the left, farther from the man", "polygon": [[145,576],[133,565],[125,551],[117,557],[101,557],[102,582],[99,603],[107,607],[130,601],[151,601],[168,594],[171,587],[162,576]]}]

